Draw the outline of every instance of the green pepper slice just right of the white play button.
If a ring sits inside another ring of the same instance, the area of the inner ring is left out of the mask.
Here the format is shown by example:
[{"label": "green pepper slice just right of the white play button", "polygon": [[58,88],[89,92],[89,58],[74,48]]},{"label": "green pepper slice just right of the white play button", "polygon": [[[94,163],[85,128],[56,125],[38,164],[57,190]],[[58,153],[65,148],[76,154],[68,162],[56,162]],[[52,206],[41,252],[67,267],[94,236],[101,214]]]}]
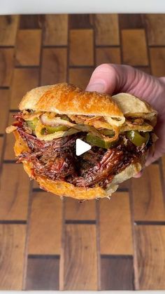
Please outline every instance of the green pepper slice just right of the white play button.
[{"label": "green pepper slice just right of the white play button", "polygon": [[105,149],[108,149],[110,147],[114,147],[115,143],[116,143],[116,141],[108,142],[106,140],[103,140],[103,139],[97,137],[96,135],[93,135],[92,133],[87,133],[86,141],[87,141],[87,143],[89,143],[91,145],[105,148]]}]

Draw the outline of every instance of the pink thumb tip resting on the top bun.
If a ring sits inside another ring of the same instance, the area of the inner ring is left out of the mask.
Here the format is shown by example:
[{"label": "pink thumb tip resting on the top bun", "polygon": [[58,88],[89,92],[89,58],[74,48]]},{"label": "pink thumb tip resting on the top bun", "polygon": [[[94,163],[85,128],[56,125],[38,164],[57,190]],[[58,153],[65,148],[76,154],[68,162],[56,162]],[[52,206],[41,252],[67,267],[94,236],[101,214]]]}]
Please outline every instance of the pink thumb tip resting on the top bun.
[{"label": "pink thumb tip resting on the top bun", "polygon": [[119,75],[115,65],[103,64],[94,69],[87,85],[86,91],[109,93],[112,95],[116,85],[119,84]]}]

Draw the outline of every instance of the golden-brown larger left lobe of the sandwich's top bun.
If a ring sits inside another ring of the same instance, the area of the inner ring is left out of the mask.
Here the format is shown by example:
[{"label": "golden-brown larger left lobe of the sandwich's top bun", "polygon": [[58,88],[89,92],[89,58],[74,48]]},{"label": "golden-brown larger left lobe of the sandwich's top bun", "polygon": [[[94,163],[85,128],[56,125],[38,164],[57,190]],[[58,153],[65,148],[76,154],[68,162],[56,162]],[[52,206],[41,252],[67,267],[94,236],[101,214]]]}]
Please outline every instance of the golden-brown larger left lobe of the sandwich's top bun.
[{"label": "golden-brown larger left lobe of the sandwich's top bun", "polygon": [[19,107],[59,114],[123,117],[110,95],[82,91],[68,83],[35,88],[24,96]]}]

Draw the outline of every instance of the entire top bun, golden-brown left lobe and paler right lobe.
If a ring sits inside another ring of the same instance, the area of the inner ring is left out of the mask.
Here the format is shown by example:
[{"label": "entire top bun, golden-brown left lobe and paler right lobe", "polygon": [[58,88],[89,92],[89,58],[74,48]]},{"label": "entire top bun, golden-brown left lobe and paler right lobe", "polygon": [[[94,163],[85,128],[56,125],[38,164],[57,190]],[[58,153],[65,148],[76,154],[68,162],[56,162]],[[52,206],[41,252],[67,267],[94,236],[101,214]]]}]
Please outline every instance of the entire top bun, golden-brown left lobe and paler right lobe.
[{"label": "entire top bun, golden-brown left lobe and paler right lobe", "polygon": [[120,93],[110,97],[105,93],[83,91],[69,83],[34,88],[24,96],[19,108],[57,114],[107,116],[121,121],[124,115],[129,114],[143,114],[145,117],[157,114],[148,103],[133,95]]}]

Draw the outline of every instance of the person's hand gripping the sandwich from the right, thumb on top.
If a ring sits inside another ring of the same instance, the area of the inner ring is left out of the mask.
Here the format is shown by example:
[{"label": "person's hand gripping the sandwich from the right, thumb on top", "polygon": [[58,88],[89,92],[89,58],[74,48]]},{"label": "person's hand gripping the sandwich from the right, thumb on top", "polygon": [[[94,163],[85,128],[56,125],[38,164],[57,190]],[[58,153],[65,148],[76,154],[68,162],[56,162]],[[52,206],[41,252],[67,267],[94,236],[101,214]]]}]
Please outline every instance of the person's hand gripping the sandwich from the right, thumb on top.
[{"label": "person's hand gripping the sandwich from the right, thumb on top", "polygon": [[149,154],[145,166],[165,153],[165,77],[150,76],[128,65],[103,64],[92,73],[86,90],[110,95],[127,92],[149,102],[158,112],[155,133],[159,140],[155,143],[155,153]]}]

